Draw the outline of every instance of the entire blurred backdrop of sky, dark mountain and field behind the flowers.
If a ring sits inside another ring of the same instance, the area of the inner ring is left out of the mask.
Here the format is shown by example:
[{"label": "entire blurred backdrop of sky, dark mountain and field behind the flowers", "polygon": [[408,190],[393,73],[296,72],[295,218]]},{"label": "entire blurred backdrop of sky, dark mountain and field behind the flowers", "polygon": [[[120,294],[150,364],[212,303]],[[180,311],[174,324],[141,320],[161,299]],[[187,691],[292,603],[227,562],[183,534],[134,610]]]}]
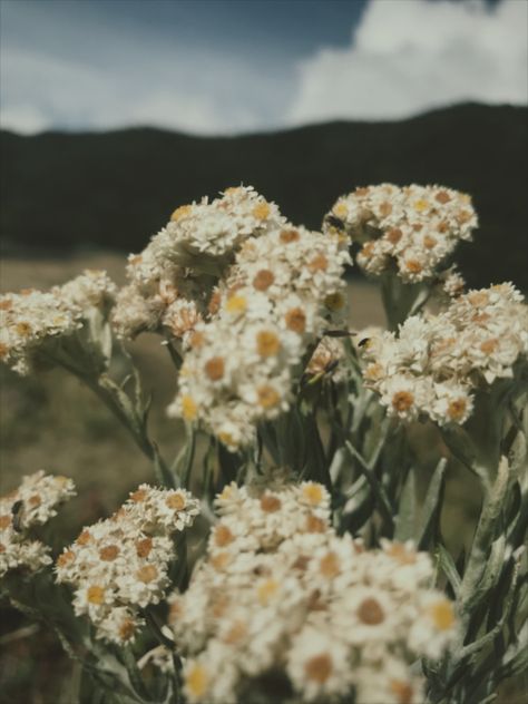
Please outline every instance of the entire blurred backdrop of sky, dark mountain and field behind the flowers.
[{"label": "entire blurred backdrop of sky, dark mountain and field behind the flowers", "polygon": [[[382,182],[470,193],[469,284],[528,291],[527,27],[526,0],[0,0],[1,292],[85,267],[123,283],[125,255],[175,207],[227,186],[317,228],[339,195]],[[350,299],[352,325],[382,322],[356,272]],[[170,454],[170,362],[149,335],[131,352]],[[76,380],[1,372],[0,491],[40,468],[75,477],[62,542],[151,479]],[[452,472],[453,551],[470,539],[473,489]],[[53,636],[26,637],[6,607],[0,619],[0,701],[76,701]],[[521,701],[505,688],[502,702]]]}]

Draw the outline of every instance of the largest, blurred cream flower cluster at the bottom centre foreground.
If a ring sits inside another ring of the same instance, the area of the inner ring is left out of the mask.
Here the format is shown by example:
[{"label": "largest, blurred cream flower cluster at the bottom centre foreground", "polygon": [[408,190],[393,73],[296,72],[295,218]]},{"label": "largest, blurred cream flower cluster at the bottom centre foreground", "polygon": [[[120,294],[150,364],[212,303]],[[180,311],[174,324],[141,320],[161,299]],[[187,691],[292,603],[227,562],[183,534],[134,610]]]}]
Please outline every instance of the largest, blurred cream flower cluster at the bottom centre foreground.
[{"label": "largest, blurred cream flower cluster at the bottom centre foreground", "polygon": [[189,702],[250,701],[252,683],[284,677],[296,698],[419,704],[417,656],[439,657],[457,635],[452,604],[429,588],[429,556],[382,541],[366,551],[330,525],[315,482],[228,485],[206,559],[169,598],[186,655]]}]

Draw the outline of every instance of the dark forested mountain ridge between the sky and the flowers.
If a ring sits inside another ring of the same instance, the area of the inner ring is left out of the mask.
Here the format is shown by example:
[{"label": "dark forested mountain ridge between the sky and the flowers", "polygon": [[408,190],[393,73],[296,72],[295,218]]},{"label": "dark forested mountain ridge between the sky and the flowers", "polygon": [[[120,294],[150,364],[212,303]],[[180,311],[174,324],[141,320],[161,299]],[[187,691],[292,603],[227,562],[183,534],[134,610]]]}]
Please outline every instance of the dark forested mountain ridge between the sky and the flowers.
[{"label": "dark forested mountain ridge between the sky and the flowers", "polygon": [[238,137],[151,128],[30,137],[2,131],[3,252],[137,252],[176,206],[241,183],[311,228],[359,185],[437,183],[473,196],[480,228],[458,256],[469,284],[512,280],[528,290],[527,113],[468,104],[401,121],[335,121]]}]

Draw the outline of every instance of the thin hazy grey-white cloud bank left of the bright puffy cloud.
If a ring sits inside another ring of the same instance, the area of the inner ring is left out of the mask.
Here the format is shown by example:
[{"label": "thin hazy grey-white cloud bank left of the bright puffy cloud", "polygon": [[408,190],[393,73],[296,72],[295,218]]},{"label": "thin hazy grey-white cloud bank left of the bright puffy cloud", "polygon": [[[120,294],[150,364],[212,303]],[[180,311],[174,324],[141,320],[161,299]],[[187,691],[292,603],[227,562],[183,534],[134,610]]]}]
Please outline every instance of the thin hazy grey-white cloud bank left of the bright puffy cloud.
[{"label": "thin hazy grey-white cloud bank left of the bright puffy cloud", "polygon": [[32,134],[151,125],[233,134],[265,128],[291,90],[293,67],[290,77],[277,76],[256,56],[241,60],[216,47],[167,41],[151,29],[113,31],[97,17],[53,19],[56,26],[46,13],[38,18],[47,42],[4,32],[3,128]]}]

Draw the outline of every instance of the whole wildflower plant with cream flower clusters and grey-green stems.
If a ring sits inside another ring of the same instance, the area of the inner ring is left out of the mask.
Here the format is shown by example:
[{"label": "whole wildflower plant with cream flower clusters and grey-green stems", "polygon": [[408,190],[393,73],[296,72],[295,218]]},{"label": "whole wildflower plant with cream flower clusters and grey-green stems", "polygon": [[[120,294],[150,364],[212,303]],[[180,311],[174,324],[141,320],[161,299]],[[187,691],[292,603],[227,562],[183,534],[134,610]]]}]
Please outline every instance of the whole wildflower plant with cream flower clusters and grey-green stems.
[{"label": "whole wildflower plant with cream flower clusters and grey-green stems", "polygon": [[[322,232],[241,186],[179,206],[120,290],[85,272],[0,297],[1,360],[75,374],[150,467],[62,550],[43,524],[71,480],[0,499],[2,590],[80,664],[80,701],[479,704],[526,669],[528,307],[465,290],[476,226],[443,186],[358,188]],[[387,330],[349,327],[353,261]],[[170,461],[146,332],[174,363]],[[480,490],[460,554],[448,470]]]}]

